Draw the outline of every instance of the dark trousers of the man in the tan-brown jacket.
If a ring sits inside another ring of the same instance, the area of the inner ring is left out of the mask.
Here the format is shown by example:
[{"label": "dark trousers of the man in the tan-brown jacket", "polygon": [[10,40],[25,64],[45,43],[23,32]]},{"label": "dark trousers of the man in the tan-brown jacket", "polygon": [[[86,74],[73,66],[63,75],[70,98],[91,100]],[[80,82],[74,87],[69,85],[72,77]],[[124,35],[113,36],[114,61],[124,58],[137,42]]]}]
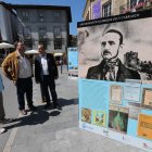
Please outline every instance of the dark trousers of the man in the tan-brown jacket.
[{"label": "dark trousers of the man in the tan-brown jacket", "polygon": [[16,93],[18,101],[18,109],[25,109],[25,99],[24,94],[26,93],[26,100],[28,107],[33,106],[33,80],[31,77],[28,78],[18,78],[16,81]]}]

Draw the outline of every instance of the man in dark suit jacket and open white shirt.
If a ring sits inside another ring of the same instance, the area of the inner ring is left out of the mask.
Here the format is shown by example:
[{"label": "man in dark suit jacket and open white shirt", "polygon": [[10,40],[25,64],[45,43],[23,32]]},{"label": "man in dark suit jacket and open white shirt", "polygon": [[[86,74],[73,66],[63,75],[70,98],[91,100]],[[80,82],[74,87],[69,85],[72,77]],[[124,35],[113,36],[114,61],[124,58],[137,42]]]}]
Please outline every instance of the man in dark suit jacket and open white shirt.
[{"label": "man in dark suit jacket and open white shirt", "polygon": [[61,110],[58,104],[58,94],[55,91],[54,79],[58,79],[59,73],[54,58],[52,54],[46,53],[43,45],[38,46],[38,51],[40,54],[35,58],[35,78],[37,84],[40,83],[46,98],[47,104],[45,109],[49,107],[51,104],[49,96],[50,89],[54,109]]}]

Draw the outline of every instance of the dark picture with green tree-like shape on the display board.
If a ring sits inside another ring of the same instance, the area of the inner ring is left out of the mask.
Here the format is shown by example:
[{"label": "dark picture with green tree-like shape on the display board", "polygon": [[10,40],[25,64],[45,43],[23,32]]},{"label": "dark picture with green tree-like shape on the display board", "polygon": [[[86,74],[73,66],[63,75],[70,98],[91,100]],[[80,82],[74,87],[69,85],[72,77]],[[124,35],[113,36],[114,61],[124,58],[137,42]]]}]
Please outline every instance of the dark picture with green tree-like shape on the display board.
[{"label": "dark picture with green tree-like shape on the display board", "polygon": [[128,109],[111,105],[109,115],[109,128],[126,134],[127,124],[128,124]]}]

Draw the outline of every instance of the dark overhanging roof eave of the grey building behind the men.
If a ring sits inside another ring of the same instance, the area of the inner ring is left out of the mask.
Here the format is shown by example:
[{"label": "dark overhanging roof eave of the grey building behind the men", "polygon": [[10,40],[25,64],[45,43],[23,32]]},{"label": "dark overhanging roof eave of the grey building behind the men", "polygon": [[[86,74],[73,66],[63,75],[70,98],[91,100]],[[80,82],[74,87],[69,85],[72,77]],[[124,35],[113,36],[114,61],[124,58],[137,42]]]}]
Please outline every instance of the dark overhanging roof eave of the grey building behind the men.
[{"label": "dark overhanging roof eave of the grey building behind the men", "polygon": [[35,4],[11,4],[14,10],[17,9],[36,9],[36,10],[65,10],[68,16],[68,22],[72,22],[71,7],[59,7],[59,5],[35,5]]}]

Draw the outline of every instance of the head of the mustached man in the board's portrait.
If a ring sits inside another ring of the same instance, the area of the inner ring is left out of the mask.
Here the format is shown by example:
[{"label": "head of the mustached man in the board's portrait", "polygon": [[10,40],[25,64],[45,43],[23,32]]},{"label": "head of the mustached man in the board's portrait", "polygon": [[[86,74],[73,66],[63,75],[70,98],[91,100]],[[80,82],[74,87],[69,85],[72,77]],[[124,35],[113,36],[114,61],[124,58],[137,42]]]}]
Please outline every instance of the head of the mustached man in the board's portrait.
[{"label": "head of the mustached man in the board's portrait", "polygon": [[110,29],[101,38],[101,55],[104,60],[113,60],[118,55],[123,45],[123,35],[116,29]]}]

